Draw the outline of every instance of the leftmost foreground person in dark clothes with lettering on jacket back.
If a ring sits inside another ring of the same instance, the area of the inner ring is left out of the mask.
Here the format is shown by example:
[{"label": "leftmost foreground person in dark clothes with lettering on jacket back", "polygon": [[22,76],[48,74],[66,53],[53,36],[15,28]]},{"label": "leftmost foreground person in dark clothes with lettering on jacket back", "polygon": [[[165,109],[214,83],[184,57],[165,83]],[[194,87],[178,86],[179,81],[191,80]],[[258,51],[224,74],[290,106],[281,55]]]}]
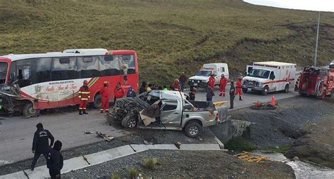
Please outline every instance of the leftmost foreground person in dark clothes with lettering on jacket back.
[{"label": "leftmost foreground person in dark clothes with lettering on jacket back", "polygon": [[[31,170],[34,171],[35,165],[38,158],[44,155],[47,159],[47,151],[52,145],[54,145],[54,136],[43,128],[43,124],[39,123],[36,125],[37,131],[35,132],[34,139],[32,140],[32,154],[35,154],[34,159],[32,159]],[[49,139],[51,140],[49,144]]]}]

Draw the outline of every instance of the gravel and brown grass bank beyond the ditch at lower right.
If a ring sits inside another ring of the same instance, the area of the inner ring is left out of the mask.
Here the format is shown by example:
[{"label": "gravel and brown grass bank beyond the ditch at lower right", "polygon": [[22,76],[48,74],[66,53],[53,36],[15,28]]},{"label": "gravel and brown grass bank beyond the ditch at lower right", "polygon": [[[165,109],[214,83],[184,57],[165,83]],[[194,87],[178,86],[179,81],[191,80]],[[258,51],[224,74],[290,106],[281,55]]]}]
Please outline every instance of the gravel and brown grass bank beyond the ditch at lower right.
[{"label": "gravel and brown grass bank beyond the ditch at lower right", "polygon": [[242,138],[257,148],[280,150],[285,147],[287,157],[297,156],[333,168],[333,109],[334,98],[295,97],[280,100],[276,110],[245,108],[231,115],[233,119],[256,123]]}]

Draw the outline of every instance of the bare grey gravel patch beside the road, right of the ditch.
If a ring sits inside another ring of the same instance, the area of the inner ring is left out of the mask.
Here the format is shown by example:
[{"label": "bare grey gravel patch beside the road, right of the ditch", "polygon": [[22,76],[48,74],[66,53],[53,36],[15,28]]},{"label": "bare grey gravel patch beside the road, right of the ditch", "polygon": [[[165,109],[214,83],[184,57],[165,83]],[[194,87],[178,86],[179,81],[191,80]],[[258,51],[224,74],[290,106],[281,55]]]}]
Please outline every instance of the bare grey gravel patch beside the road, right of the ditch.
[{"label": "bare grey gravel patch beside the road, right of the ditch", "polygon": [[276,110],[252,110],[244,108],[230,112],[232,119],[251,121],[256,124],[249,127],[243,135],[258,147],[292,144],[297,138],[309,131],[304,125],[320,121],[324,115],[334,109],[332,99],[295,97],[280,100]]}]

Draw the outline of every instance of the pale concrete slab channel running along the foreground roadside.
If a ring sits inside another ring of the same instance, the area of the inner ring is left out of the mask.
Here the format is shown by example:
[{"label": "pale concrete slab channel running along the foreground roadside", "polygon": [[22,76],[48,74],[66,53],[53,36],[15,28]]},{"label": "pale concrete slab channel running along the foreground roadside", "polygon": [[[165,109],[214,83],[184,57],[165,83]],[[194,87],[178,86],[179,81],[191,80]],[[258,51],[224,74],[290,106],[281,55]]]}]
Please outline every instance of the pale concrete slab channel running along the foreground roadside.
[{"label": "pale concrete slab channel running along the foreground roadside", "polygon": [[[76,171],[81,168],[86,168],[89,166],[94,166],[97,164],[104,163],[106,161],[111,161],[113,159],[118,159],[120,157],[129,156],[131,154],[136,154],[139,152],[144,152],[147,150],[221,150],[222,144],[182,144],[180,149],[175,145],[171,144],[161,144],[161,145],[124,145],[121,147],[116,147],[110,150],[104,150],[94,154],[88,154],[81,157],[75,157],[64,161],[63,169],[61,173],[68,173],[70,171]],[[39,166],[35,168],[35,171],[24,170],[18,171],[16,173],[10,173],[7,175],[1,175],[0,179],[5,178],[49,178],[49,169],[47,166]]]}]

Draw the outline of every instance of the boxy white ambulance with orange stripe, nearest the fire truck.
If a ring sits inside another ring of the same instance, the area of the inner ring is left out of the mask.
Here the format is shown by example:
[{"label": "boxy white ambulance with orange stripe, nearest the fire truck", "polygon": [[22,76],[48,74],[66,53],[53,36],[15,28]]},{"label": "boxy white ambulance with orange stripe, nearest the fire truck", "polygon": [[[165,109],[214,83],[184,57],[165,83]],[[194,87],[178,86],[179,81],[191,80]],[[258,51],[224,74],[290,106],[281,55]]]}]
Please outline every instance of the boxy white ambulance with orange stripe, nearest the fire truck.
[{"label": "boxy white ambulance with orange stripe, nearest the fire truck", "polygon": [[247,65],[247,76],[242,79],[242,91],[284,91],[295,86],[296,64],[286,62],[254,62]]}]

